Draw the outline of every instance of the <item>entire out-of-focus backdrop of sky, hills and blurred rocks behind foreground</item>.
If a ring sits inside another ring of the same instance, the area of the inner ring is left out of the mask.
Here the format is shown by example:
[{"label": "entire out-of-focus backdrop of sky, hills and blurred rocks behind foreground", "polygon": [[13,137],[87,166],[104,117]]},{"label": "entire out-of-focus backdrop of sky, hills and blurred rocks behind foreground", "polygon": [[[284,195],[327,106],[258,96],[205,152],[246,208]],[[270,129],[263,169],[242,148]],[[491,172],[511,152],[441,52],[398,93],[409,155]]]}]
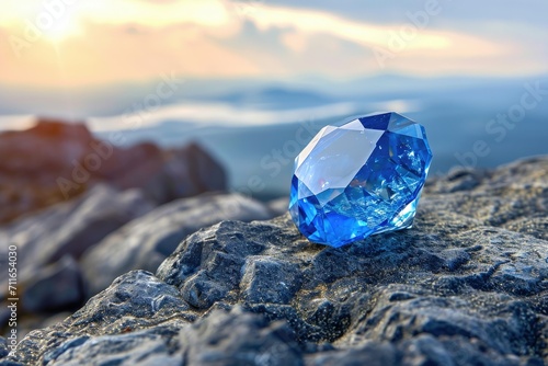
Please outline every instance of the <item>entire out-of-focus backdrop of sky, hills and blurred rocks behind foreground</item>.
[{"label": "entire out-of-focus backdrop of sky, hills and blurred rocks behind foreground", "polygon": [[2,0],[0,332],[8,248],[21,339],[199,228],[282,215],[294,158],[352,115],[423,124],[431,174],[546,155],[546,14],[544,0]]}]

